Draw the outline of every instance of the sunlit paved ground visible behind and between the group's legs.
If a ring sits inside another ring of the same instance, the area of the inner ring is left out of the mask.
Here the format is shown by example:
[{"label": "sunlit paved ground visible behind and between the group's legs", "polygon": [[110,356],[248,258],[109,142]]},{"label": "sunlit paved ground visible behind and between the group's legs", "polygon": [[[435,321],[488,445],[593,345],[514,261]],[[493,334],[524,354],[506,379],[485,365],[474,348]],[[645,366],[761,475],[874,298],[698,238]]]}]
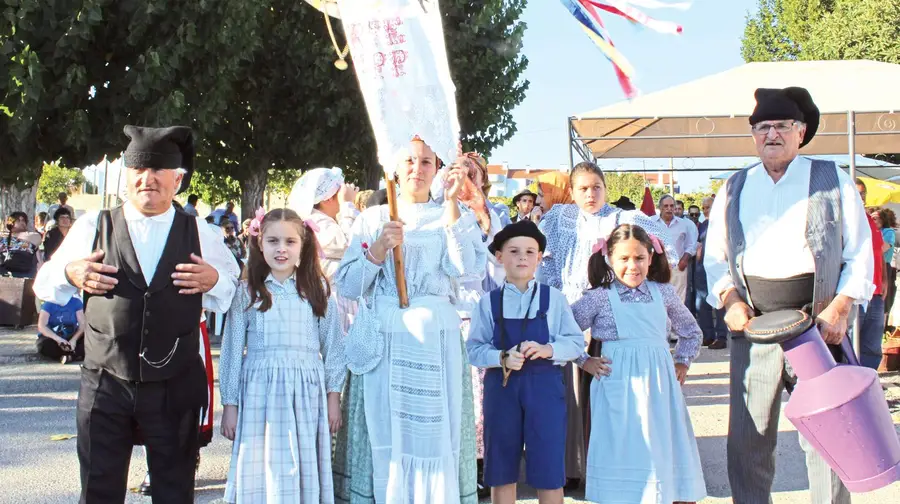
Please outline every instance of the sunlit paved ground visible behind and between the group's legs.
[{"label": "sunlit paved ground visible behind and between the group's legs", "polygon": [[[0,503],[70,504],[77,501],[78,495],[75,440],[51,441],[50,437],[75,433],[80,370],[75,365],[30,359],[32,334],[0,328]],[[731,502],[725,468],[727,358],[727,351],[705,351],[691,368],[685,386],[710,495],[704,504]],[[889,390],[895,399],[900,399],[900,377],[888,381],[896,382]],[[900,415],[895,419],[900,423]],[[778,504],[808,503],[797,433],[783,417],[779,428],[774,500]],[[229,458],[230,444],[221,436],[203,450],[196,502],[222,502]],[[135,450],[128,478],[130,486],[140,484],[145,469],[143,453]],[[583,502],[578,497],[573,495],[566,502]],[[150,499],[129,494],[126,502],[150,504]],[[520,502],[536,501],[523,498]],[[855,496],[853,502],[900,502],[900,483]]]}]

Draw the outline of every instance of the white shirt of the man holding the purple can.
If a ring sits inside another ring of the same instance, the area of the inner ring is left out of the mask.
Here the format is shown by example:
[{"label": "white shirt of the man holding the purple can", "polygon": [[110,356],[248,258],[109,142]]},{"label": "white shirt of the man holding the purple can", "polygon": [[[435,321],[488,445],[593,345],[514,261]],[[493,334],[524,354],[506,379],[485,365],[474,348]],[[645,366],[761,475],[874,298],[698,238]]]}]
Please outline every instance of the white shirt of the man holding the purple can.
[{"label": "white shirt of the man holding the purple can", "polygon": [[[815,260],[806,242],[809,207],[809,177],[812,162],[794,159],[776,184],[762,164],[750,168],[741,192],[739,215],[744,228],[744,275],[768,279],[789,278],[815,272]],[[872,283],[872,234],[856,185],[843,170],[837,170],[841,193],[841,254],[843,269],[837,294],[868,301]],[[720,296],[734,287],[728,270],[726,235],[726,187],[719,189],[709,214],[703,265],[709,285],[708,303],[723,306]],[[836,238],[836,237],[835,237]]]}]

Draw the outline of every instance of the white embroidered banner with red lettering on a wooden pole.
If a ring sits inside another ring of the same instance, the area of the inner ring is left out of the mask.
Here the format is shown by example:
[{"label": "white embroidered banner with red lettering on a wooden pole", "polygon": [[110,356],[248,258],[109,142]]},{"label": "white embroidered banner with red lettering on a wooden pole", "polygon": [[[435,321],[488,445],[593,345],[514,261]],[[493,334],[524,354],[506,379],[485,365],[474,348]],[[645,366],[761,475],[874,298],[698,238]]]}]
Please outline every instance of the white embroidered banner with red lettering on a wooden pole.
[{"label": "white embroidered banner with red lettering on a wooden pole", "polygon": [[456,87],[437,0],[337,0],[378,145],[393,173],[419,135],[445,162],[456,157]]}]

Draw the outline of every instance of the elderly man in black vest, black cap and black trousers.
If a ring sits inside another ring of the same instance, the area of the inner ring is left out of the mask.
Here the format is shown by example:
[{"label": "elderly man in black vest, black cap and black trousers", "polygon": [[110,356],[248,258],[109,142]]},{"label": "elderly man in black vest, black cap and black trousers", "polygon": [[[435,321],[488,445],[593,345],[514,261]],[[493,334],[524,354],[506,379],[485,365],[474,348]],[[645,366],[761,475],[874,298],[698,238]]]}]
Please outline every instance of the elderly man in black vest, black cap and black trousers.
[{"label": "elderly man in black vest, black cap and black trousers", "polygon": [[191,130],[126,126],[125,134],[127,201],[78,219],[34,291],[61,304],[84,292],[80,502],[125,500],[139,430],[153,502],[187,504],[207,404],[201,310],[228,309],[238,268],[220,234],[172,205],[190,181]]}]

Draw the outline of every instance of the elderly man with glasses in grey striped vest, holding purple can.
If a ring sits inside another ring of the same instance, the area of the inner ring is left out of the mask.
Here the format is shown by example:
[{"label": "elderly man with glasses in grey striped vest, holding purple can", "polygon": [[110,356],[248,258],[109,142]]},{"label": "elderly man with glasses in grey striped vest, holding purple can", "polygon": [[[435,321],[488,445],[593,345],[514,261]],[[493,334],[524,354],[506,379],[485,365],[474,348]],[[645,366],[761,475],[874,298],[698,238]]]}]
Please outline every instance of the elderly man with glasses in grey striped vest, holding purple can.
[{"label": "elderly man with glasses in grey striped vest, holding purple can", "polygon": [[[750,318],[806,308],[836,358],[854,304],[872,283],[872,237],[853,180],[833,162],[798,156],[819,110],[803,88],[758,89],[751,131],[761,163],[734,174],[709,218],[709,303],[726,308],[731,345],[728,480],[736,504],[772,502],[783,390],[796,383],[779,345],[743,338]],[[804,439],[814,504],[850,494]]]}]

